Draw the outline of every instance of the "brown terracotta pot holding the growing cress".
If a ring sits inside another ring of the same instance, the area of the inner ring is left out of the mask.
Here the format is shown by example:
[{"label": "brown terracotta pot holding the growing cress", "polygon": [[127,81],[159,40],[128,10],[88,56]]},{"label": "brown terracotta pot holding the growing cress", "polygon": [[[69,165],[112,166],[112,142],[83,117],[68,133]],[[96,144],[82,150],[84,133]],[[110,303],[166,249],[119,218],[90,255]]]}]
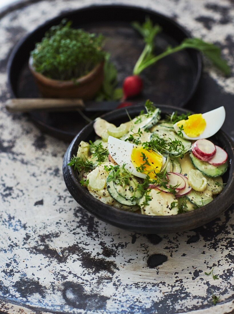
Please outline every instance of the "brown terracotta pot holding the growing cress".
[{"label": "brown terracotta pot holding the growing cress", "polygon": [[74,81],[62,81],[47,78],[39,72],[36,72],[32,66],[33,58],[29,59],[29,68],[34,76],[35,82],[43,97],[47,98],[81,98],[84,100],[92,99],[101,88],[104,78],[103,65],[99,63],[88,74]]}]

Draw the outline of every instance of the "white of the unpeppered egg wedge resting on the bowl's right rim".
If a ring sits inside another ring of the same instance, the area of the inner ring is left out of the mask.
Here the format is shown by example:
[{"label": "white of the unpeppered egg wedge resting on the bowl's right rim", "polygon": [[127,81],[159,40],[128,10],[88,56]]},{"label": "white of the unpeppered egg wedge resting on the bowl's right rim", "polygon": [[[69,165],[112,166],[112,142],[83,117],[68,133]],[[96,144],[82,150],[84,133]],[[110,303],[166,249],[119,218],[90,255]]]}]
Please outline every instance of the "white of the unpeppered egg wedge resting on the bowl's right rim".
[{"label": "white of the unpeppered egg wedge resting on the bowl's right rim", "polygon": [[[204,118],[206,122],[206,127],[199,136],[197,137],[189,137],[184,131],[183,133],[183,138],[186,139],[191,139],[191,140],[197,140],[197,139],[202,139],[202,138],[209,138],[210,136],[214,135],[219,131],[219,129],[222,127],[224,120],[225,120],[225,108],[224,106],[221,106],[217,109],[205,112],[202,114],[202,117]],[[179,132],[179,127],[177,126],[177,123],[173,125],[176,133]]]}]

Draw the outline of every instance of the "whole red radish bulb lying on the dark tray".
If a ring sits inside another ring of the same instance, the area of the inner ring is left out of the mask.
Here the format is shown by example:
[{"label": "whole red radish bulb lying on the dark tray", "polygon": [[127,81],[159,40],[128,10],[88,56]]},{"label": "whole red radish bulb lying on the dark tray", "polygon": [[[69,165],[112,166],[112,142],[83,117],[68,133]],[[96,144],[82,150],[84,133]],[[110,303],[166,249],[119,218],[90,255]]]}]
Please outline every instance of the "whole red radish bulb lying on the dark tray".
[{"label": "whole red radish bulb lying on the dark tray", "polygon": [[143,89],[143,82],[139,75],[131,75],[123,81],[123,95],[124,99],[128,97],[137,96]]}]

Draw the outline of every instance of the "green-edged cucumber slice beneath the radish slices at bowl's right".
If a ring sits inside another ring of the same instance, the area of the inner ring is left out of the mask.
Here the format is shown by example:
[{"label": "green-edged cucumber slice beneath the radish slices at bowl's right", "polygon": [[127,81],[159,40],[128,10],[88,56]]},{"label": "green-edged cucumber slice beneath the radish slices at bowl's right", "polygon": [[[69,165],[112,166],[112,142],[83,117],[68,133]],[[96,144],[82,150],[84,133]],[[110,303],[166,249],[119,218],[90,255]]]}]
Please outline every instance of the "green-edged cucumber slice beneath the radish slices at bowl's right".
[{"label": "green-edged cucumber slice beneath the radish slices at bowl's right", "polygon": [[220,166],[210,165],[207,161],[199,160],[197,157],[190,153],[190,159],[195,168],[200,170],[205,176],[216,178],[222,176],[227,171],[228,163],[226,161],[225,164]]}]

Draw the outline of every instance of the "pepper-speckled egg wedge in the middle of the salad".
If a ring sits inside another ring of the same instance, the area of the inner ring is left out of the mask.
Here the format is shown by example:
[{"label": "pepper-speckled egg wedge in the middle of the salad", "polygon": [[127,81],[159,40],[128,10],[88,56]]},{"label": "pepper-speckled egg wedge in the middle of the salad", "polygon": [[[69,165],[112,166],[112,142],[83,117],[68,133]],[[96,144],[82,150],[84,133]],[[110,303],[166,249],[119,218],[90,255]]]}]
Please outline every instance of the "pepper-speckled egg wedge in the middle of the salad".
[{"label": "pepper-speckled egg wedge in the middle of the salad", "polygon": [[160,172],[166,161],[166,158],[159,153],[112,136],[108,138],[108,150],[118,165],[125,165],[126,170],[139,178],[145,178],[147,174],[152,178],[155,177],[155,173]]}]

